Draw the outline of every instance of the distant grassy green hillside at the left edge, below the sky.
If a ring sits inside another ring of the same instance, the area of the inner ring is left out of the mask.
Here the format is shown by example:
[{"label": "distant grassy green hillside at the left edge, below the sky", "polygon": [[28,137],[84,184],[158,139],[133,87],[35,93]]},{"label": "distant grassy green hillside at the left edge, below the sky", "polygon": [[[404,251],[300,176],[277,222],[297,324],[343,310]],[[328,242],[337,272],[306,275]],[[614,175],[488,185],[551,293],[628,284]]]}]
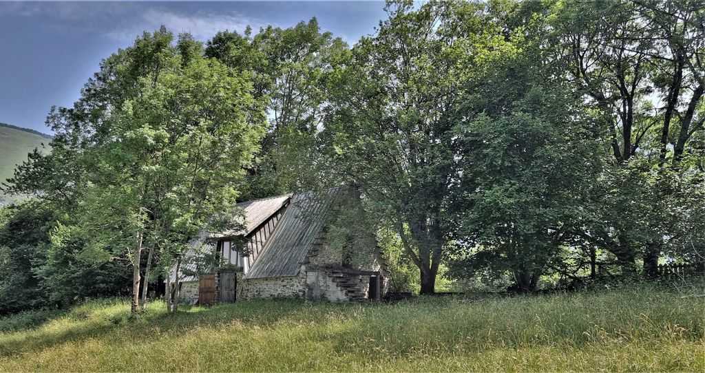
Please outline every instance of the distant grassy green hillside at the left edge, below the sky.
[{"label": "distant grassy green hillside at the left edge, below the sky", "polygon": [[[0,182],[13,175],[15,166],[27,159],[27,154],[35,148],[42,150],[42,143],[47,146],[51,136],[44,133],[0,123]],[[43,149],[42,151],[47,151]],[[0,200],[2,192],[0,192]]]}]

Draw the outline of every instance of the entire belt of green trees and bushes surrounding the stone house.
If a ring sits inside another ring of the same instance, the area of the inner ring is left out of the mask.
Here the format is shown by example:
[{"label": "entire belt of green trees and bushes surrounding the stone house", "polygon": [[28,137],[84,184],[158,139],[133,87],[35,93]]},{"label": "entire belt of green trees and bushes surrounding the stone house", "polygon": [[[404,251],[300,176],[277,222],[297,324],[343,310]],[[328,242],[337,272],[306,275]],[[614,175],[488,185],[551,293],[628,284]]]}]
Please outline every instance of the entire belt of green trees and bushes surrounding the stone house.
[{"label": "entire belt of green trees and bushes surrounding the stone house", "polygon": [[315,19],[145,32],[4,188],[35,198],[0,215],[0,312],[125,288],[136,312],[238,200],[341,184],[365,219],[331,237],[376,231],[396,291],[702,270],[702,5],[388,1],[353,46]]}]

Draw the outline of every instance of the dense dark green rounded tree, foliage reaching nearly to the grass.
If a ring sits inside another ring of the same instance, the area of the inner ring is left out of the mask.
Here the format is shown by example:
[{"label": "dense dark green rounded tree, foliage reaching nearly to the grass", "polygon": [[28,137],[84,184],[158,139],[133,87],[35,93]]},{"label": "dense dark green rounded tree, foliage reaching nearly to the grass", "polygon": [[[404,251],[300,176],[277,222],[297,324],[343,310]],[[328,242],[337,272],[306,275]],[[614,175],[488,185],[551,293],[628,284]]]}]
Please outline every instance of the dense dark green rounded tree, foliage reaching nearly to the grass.
[{"label": "dense dark green rounded tree, foliage reaching nearly to the grass", "polygon": [[534,291],[582,228],[603,153],[580,97],[552,78],[559,66],[541,39],[512,39],[517,49],[485,61],[458,105],[463,192],[453,205],[465,238],[455,273],[509,272],[516,290]]}]

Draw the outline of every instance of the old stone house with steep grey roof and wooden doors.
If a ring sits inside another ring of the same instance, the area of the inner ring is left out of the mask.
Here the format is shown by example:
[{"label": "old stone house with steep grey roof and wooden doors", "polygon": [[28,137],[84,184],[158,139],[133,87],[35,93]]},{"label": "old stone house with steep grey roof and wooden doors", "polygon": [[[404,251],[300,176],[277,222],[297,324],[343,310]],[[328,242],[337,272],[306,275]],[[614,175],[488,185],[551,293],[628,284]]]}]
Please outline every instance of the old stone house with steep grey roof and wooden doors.
[{"label": "old stone house with steep grey roof and wooden doors", "polygon": [[[238,206],[245,210],[245,228],[207,238],[207,251],[218,252],[221,264],[201,273],[185,264],[179,276],[182,299],[192,304],[293,297],[361,301],[386,293],[388,271],[374,232],[356,229],[359,219],[345,221],[350,211],[362,212],[353,188],[297,192]],[[342,240],[336,233],[341,226],[348,232]]]}]

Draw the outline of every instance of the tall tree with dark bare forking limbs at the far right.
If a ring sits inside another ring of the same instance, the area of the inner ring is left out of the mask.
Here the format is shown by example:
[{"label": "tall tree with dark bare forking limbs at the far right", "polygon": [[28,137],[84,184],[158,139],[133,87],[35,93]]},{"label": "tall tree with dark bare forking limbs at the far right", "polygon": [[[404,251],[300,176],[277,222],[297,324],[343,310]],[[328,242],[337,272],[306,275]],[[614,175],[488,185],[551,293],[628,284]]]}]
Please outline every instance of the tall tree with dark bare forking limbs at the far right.
[{"label": "tall tree with dark bare forking limbs at the far right", "polygon": [[[568,80],[602,114],[615,166],[625,169],[611,173],[621,179],[606,180],[617,188],[609,195],[618,200],[637,200],[639,195],[631,193],[649,183],[635,177],[650,177],[649,173],[629,171],[649,167],[642,164],[644,160],[661,169],[658,178],[677,176],[666,169],[668,163],[680,167],[689,140],[701,128],[702,19],[697,2],[567,1],[553,9],[555,34],[549,40],[566,64]],[[630,165],[635,158],[637,164]],[[644,205],[666,197],[639,202]],[[669,233],[660,231],[646,239],[639,232],[642,226],[632,224],[642,216],[614,202],[604,201],[603,205],[623,210],[601,210],[603,215],[595,221],[610,223],[591,227],[594,244],[607,244],[603,247],[611,250],[625,269],[635,269],[635,260],[642,257],[646,276],[656,276],[658,257],[666,245],[659,237]],[[658,207],[649,209],[656,211]],[[651,225],[671,226],[668,222]],[[611,233],[598,237],[598,231]],[[642,238],[645,240],[635,240]]]}]

